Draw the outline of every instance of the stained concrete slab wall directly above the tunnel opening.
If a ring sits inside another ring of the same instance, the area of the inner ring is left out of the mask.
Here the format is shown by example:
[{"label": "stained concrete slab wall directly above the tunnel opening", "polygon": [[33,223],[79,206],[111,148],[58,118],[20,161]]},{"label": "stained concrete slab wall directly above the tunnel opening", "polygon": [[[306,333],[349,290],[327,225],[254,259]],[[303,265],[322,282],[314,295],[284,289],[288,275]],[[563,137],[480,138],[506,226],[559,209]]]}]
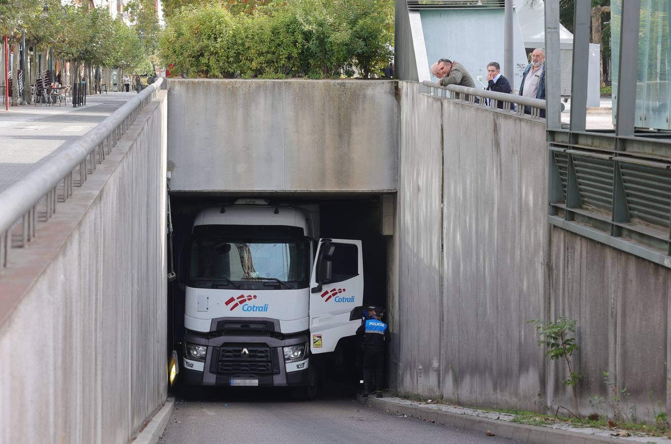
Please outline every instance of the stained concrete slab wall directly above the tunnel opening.
[{"label": "stained concrete slab wall directly above the tunnel opening", "polygon": [[396,190],[389,80],[168,80],[174,192]]}]

